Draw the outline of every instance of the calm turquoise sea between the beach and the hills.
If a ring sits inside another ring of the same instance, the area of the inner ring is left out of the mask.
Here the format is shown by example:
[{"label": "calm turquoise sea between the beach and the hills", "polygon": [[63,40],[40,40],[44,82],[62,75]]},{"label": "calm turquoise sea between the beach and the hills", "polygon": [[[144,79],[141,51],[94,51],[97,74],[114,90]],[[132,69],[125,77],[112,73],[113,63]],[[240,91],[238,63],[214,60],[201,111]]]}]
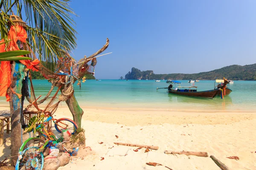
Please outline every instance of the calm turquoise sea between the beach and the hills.
[{"label": "calm turquoise sea between the beach and the hills", "polygon": [[[181,81],[181,86],[191,86],[188,80]],[[200,80],[195,82],[198,91],[211,90],[214,88],[214,80]],[[51,83],[47,80],[33,80],[35,95],[45,96]],[[195,98],[169,94],[166,80],[113,80],[101,79],[87,80],[82,83],[81,90],[74,84],[75,96],[79,105],[84,108],[115,108],[135,110],[168,110],[168,111],[195,111],[195,112],[219,112],[219,111],[256,111],[256,81],[234,81],[228,84],[233,90],[229,96],[221,99]],[[43,98],[43,97],[41,97]],[[5,97],[0,97],[0,105],[8,106]],[[61,103],[66,105],[65,102]]]}]

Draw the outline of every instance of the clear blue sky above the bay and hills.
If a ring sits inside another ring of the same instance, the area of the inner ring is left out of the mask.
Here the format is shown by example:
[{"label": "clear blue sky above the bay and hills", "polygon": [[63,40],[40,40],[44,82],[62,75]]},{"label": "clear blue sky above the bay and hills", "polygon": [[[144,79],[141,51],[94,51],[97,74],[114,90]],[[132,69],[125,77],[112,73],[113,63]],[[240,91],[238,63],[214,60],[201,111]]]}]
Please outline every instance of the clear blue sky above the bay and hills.
[{"label": "clear blue sky above the bay and hills", "polygon": [[97,58],[97,79],[132,67],[155,74],[199,73],[256,63],[255,0],[73,0],[75,59]]}]

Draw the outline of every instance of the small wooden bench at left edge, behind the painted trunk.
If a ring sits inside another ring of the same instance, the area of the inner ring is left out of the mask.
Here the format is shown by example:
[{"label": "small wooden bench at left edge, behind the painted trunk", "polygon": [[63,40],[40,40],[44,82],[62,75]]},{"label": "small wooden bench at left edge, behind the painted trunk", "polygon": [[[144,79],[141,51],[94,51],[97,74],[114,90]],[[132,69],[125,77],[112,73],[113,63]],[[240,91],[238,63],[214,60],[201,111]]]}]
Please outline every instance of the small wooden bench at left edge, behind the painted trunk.
[{"label": "small wooden bench at left edge, behind the painted trunk", "polygon": [[[8,110],[0,111],[0,145],[3,144],[3,131],[4,127],[6,126],[6,133],[9,133],[10,130],[10,119],[11,119],[11,113]],[[4,125],[4,122],[6,122],[6,125]]]}]

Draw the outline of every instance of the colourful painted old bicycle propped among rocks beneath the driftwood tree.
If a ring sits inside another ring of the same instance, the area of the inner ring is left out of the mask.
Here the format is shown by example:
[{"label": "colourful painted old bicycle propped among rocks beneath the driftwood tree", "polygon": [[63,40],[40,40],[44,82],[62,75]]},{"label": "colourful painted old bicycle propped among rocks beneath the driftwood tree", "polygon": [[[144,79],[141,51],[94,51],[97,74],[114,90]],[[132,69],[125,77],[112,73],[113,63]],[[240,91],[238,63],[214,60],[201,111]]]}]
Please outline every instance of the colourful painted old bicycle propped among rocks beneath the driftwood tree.
[{"label": "colourful painted old bicycle propped among rocks beneath the driftwood tree", "polygon": [[[61,118],[61,119],[66,119],[66,118]],[[47,125],[47,123],[51,120],[52,120],[52,117],[49,116],[43,123],[41,123],[40,125],[38,125],[38,127],[36,127],[36,131],[39,133],[39,137],[29,138],[21,145],[15,170],[42,170],[44,167],[43,152],[47,147],[47,145],[49,144],[49,142],[60,143],[64,141],[63,137],[57,139],[52,132],[47,132],[47,130],[45,129],[45,125]],[[72,122],[74,127],[73,133],[75,133],[77,129],[76,123],[70,119],[68,120]],[[55,128],[58,127],[56,125],[58,124],[55,124]],[[56,130],[58,131],[60,129],[56,128]],[[43,140],[42,137],[46,140]],[[37,146],[29,147],[29,145],[32,142]]]}]

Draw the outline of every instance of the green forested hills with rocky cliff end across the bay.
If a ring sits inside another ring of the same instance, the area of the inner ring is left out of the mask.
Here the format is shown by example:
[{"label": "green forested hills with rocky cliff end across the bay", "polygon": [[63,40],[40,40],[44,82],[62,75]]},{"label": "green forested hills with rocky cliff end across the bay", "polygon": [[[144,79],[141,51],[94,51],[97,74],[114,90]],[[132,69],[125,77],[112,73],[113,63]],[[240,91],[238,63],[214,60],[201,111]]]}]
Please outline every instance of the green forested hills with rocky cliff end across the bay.
[{"label": "green forested hills with rocky cliff end across the bay", "polygon": [[213,80],[226,77],[232,80],[256,80],[256,64],[251,65],[230,65],[220,69],[196,74],[154,74],[152,70],[140,71],[137,68],[131,68],[131,71],[125,75],[125,79],[200,79]]}]

